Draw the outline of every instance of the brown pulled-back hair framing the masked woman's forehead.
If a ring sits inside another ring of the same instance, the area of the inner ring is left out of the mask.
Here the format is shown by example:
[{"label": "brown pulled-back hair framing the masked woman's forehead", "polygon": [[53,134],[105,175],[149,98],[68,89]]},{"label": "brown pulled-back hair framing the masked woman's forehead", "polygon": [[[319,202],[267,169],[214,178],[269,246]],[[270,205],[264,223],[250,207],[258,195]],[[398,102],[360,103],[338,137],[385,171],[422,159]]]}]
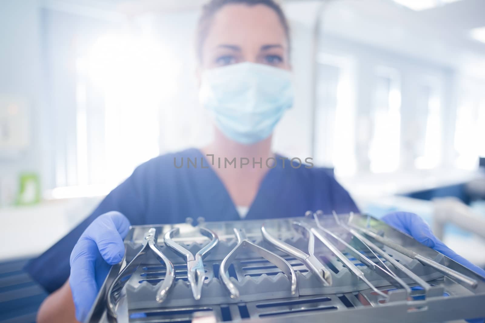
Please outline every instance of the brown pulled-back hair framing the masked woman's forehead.
[{"label": "brown pulled-back hair framing the masked woman's forehead", "polygon": [[199,17],[195,35],[195,52],[199,61],[202,61],[202,46],[207,38],[212,18],[227,4],[245,4],[248,6],[263,4],[273,9],[283,26],[283,30],[285,31],[288,40],[288,46],[290,47],[290,27],[283,10],[275,0],[210,0],[202,7],[202,14]]}]

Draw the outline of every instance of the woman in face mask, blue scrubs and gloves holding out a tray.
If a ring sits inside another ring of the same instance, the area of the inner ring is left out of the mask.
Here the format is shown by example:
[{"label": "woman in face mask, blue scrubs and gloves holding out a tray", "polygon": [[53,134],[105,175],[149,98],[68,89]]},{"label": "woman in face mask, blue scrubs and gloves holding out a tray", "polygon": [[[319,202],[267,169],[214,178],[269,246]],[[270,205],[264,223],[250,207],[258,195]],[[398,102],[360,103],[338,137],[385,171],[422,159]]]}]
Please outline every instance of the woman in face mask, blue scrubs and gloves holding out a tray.
[{"label": "woman in face mask, blue scrubs and gloves holding out a tray", "polygon": [[[93,214],[27,265],[51,292],[39,309],[39,323],[86,319],[110,266],[123,258],[130,223],[358,212],[325,169],[271,151],[273,129],[293,102],[289,28],[274,0],[211,0],[196,36],[199,97],[213,117],[214,140],[201,150],[140,165]],[[417,215],[385,220],[485,276],[437,240]]]}]

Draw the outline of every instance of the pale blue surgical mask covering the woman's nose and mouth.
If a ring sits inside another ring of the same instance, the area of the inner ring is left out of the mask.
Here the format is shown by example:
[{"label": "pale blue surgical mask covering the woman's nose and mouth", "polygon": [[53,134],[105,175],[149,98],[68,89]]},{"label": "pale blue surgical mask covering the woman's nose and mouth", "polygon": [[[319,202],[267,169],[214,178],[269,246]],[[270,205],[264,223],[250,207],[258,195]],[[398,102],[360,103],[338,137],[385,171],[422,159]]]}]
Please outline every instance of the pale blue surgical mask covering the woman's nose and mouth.
[{"label": "pale blue surgical mask covering the woman's nose and mouth", "polygon": [[291,73],[251,62],[207,70],[199,101],[227,138],[252,144],[268,138],[293,105]]}]

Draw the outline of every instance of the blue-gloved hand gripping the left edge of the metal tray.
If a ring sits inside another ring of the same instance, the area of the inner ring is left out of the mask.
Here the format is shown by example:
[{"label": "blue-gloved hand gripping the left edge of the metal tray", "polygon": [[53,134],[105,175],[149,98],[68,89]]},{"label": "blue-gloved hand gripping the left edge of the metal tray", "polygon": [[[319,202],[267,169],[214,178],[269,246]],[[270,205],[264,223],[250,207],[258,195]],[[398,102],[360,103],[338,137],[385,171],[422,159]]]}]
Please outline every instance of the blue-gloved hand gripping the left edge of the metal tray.
[{"label": "blue-gloved hand gripping the left edge of the metal tray", "polygon": [[129,225],[119,212],[99,215],[72,249],[69,285],[78,321],[86,319],[111,265],[122,261]]}]

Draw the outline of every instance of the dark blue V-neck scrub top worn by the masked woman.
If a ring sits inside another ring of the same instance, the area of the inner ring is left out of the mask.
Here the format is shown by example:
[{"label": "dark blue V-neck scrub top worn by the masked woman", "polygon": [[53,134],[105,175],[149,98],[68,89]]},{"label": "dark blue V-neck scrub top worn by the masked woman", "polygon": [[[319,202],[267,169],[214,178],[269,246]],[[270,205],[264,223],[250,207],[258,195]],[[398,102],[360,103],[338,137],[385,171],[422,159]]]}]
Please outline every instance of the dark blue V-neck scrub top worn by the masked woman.
[{"label": "dark blue V-neck scrub top worn by the masked woman", "polygon": [[[176,168],[175,165],[180,167],[182,157],[183,167]],[[187,158],[196,159],[197,167],[188,165]],[[291,164],[290,160],[281,158],[276,156],[276,167],[269,169],[261,181],[244,220],[303,216],[307,210],[358,212],[349,193],[328,169],[305,168],[305,164],[294,168],[298,162]],[[48,292],[60,288],[69,277],[69,256],[81,233],[98,215],[109,211],[126,215],[132,225],[181,223],[186,217],[199,216],[206,221],[240,220],[226,187],[212,168],[217,167],[217,158],[214,166],[210,162],[210,157],[192,148],[158,156],[140,165],[80,225],[30,261],[26,270]],[[221,164],[224,167],[224,161]],[[245,167],[252,167],[252,162]],[[265,167],[264,161],[262,167]]]}]

